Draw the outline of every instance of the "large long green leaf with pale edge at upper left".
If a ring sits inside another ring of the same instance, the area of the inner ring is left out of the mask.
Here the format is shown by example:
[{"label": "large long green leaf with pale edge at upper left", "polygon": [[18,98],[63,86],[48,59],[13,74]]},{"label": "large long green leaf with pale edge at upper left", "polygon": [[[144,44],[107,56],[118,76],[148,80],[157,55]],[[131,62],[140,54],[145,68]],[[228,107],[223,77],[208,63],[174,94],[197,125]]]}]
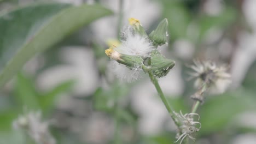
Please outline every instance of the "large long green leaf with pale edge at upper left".
[{"label": "large long green leaf with pale edge at upper left", "polygon": [[30,5],[0,15],[0,86],[28,59],[50,48],[68,34],[112,14],[100,5]]}]

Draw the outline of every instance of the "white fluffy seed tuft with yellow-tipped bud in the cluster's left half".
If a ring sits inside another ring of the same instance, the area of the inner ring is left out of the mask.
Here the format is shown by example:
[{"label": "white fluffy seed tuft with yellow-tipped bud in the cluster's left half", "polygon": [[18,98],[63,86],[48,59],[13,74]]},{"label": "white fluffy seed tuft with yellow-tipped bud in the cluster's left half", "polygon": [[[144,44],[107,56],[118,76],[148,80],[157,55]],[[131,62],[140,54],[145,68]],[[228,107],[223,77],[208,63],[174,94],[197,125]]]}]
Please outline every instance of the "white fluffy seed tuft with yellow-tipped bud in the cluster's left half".
[{"label": "white fluffy seed tuft with yellow-tipped bud in the cluster's left half", "polygon": [[[132,25],[139,23],[137,20],[132,20]],[[140,25],[140,23],[139,23]],[[151,41],[135,33],[135,29],[125,29],[124,39],[121,40],[119,46],[112,46],[105,50],[107,56],[114,61],[111,61],[112,72],[121,80],[131,82],[139,78],[139,73],[142,71],[143,58],[149,57],[150,52],[154,49]]]}]

